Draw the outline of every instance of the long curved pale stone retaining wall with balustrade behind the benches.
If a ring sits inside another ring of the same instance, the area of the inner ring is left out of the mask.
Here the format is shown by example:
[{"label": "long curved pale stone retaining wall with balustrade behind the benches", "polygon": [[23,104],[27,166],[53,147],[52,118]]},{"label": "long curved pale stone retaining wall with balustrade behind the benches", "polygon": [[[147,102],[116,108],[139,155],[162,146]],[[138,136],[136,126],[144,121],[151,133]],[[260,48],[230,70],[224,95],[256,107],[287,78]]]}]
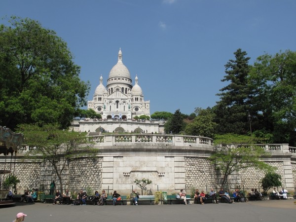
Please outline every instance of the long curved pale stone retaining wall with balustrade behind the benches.
[{"label": "long curved pale stone retaining wall with balustrade behind the benches", "polygon": [[[209,191],[211,187],[220,188],[220,174],[209,161],[213,154],[210,138],[181,135],[106,135],[95,136],[92,140],[94,148],[99,150],[95,156],[84,156],[68,161],[63,171],[63,189],[76,192],[90,187],[92,190],[117,190],[120,194],[129,194],[136,188],[134,180],[148,178],[152,181],[147,189],[167,191],[169,194],[180,189],[191,188]],[[296,154],[286,153],[287,145],[279,145],[277,149],[265,145],[270,156],[263,159],[277,168],[282,184],[290,192],[294,192],[296,183]],[[25,188],[38,188],[49,192],[49,184],[59,181],[52,166],[43,161],[24,161],[21,151],[15,162],[15,175],[21,181],[18,192]],[[0,156],[0,169],[4,169],[4,156]],[[6,161],[7,163],[7,161]],[[62,163],[62,161],[61,161]],[[6,164],[10,167],[9,164]],[[11,164],[14,168],[14,163]],[[230,176],[228,187],[249,190],[259,188],[264,172],[249,168]],[[147,194],[148,190],[144,192]]]}]

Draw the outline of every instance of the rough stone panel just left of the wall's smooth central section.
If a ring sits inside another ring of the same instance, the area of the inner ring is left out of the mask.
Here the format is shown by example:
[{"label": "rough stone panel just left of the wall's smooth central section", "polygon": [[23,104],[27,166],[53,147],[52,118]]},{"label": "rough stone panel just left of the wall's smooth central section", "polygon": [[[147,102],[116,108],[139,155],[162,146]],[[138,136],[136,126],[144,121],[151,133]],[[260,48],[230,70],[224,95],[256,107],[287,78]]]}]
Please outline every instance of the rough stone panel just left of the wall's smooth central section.
[{"label": "rough stone panel just left of the wall's smooth central section", "polygon": [[102,157],[73,159],[69,163],[69,189],[78,190],[90,187],[101,190]]}]

